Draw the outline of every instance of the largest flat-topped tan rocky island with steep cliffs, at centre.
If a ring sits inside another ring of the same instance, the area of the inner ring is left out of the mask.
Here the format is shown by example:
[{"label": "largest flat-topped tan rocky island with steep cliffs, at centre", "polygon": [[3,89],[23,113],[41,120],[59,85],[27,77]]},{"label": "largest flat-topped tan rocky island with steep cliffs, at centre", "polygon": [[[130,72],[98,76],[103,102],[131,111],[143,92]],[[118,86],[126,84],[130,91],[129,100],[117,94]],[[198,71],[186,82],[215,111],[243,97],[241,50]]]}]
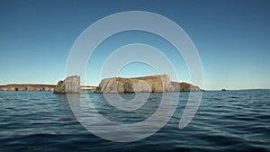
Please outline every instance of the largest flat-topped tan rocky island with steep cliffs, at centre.
[{"label": "largest flat-topped tan rocky island with steep cliffs, at centre", "polygon": [[171,82],[169,76],[164,74],[132,78],[105,78],[96,88],[95,93],[163,93],[180,91],[200,91],[200,88],[187,83]]}]

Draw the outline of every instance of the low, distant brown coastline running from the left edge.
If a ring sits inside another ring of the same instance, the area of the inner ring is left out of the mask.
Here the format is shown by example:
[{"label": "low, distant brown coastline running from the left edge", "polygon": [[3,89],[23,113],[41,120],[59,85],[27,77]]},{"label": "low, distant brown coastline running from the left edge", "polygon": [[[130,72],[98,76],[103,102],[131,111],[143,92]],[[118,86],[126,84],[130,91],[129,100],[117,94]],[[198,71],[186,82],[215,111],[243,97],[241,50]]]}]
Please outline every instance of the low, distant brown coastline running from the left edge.
[{"label": "low, distant brown coastline running from the left edge", "polygon": [[40,84],[11,84],[0,85],[1,91],[53,91],[56,85],[40,85]]}]

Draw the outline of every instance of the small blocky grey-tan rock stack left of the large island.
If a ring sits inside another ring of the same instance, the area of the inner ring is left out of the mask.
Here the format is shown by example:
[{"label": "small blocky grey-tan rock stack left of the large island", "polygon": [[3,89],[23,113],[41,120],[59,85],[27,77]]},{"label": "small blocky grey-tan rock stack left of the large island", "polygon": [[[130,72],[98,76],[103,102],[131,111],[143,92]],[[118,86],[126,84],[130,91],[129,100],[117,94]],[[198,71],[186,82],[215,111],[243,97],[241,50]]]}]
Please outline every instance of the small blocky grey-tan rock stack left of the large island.
[{"label": "small blocky grey-tan rock stack left of the large island", "polygon": [[54,89],[55,94],[79,93],[80,76],[68,76],[64,81],[59,81]]}]

